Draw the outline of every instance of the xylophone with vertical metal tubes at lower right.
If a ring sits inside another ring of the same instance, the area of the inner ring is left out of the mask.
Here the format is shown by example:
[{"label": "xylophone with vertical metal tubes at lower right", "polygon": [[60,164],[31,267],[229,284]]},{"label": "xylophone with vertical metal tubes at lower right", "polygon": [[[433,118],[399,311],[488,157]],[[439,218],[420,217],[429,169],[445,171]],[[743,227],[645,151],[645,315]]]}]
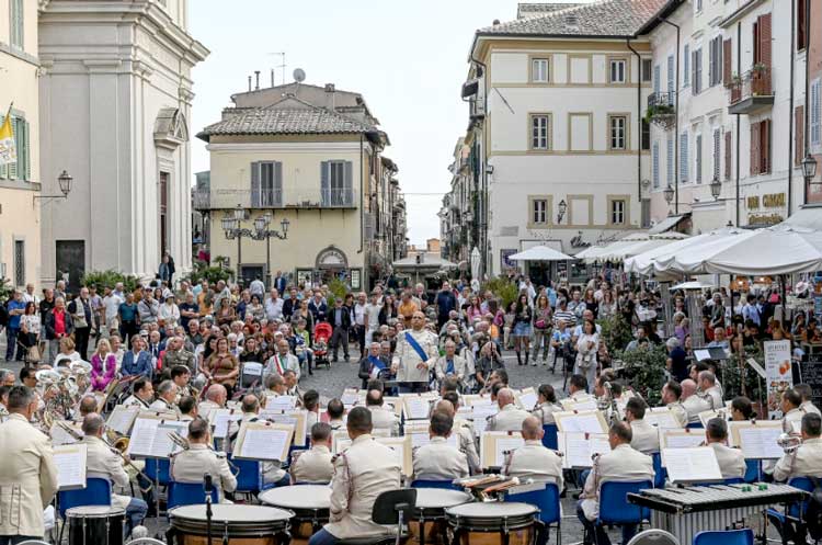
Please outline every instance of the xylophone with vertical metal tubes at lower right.
[{"label": "xylophone with vertical metal tubes at lower right", "polygon": [[711,485],[651,488],[629,493],[628,501],[651,510],[651,525],[693,543],[703,530],[727,530],[757,516],[769,506],[802,501],[806,492],[788,485]]}]

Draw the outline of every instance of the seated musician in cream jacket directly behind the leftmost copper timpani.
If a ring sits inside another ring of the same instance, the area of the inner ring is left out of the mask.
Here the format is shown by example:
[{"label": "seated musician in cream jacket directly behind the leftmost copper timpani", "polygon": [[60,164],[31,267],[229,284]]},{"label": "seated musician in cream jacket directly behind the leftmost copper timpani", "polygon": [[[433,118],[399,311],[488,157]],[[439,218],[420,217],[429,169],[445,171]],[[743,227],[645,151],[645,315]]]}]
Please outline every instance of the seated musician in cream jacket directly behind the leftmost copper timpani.
[{"label": "seated musician in cream jacket directly behind the leftmost copper timpani", "polygon": [[208,422],[197,417],[189,424],[190,447],[171,457],[171,480],[202,484],[205,474],[212,475],[220,502],[225,492],[237,489],[237,477],[231,473],[226,454],[212,450]]}]

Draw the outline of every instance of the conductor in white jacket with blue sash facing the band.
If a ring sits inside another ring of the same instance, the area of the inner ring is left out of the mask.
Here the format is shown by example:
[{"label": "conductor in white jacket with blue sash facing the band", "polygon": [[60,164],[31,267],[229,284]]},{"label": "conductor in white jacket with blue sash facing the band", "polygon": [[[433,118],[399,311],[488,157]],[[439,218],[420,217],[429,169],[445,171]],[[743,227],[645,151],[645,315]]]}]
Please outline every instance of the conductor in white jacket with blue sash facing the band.
[{"label": "conductor in white jacket with blue sash facing the band", "polygon": [[[420,356],[409,338],[414,340],[426,359]],[[397,349],[391,360],[391,373],[396,374],[399,383],[404,383],[400,385],[400,391],[427,391],[429,370],[438,356],[437,338],[425,329],[425,315],[414,313],[411,317],[411,329],[397,336]]]}]

